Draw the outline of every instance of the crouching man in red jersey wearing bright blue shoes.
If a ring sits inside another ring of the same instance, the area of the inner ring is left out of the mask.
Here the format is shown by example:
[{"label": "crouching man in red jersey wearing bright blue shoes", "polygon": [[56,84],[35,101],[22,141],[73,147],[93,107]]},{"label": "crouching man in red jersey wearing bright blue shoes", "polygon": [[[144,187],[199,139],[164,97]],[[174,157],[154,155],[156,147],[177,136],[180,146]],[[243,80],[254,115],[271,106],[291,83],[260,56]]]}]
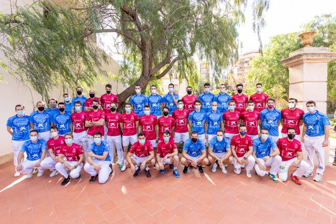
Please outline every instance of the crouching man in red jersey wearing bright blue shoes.
[{"label": "crouching man in red jersey wearing bright blue shoes", "polygon": [[178,154],[179,152],[177,151],[176,144],[171,139],[171,133],[169,133],[169,131],[163,131],[163,141],[157,144],[156,169],[160,169],[160,173],[164,174],[165,173],[164,165],[174,164],[173,174],[175,175],[176,178],[179,178],[180,174],[177,171],[177,167],[179,165]]}]

